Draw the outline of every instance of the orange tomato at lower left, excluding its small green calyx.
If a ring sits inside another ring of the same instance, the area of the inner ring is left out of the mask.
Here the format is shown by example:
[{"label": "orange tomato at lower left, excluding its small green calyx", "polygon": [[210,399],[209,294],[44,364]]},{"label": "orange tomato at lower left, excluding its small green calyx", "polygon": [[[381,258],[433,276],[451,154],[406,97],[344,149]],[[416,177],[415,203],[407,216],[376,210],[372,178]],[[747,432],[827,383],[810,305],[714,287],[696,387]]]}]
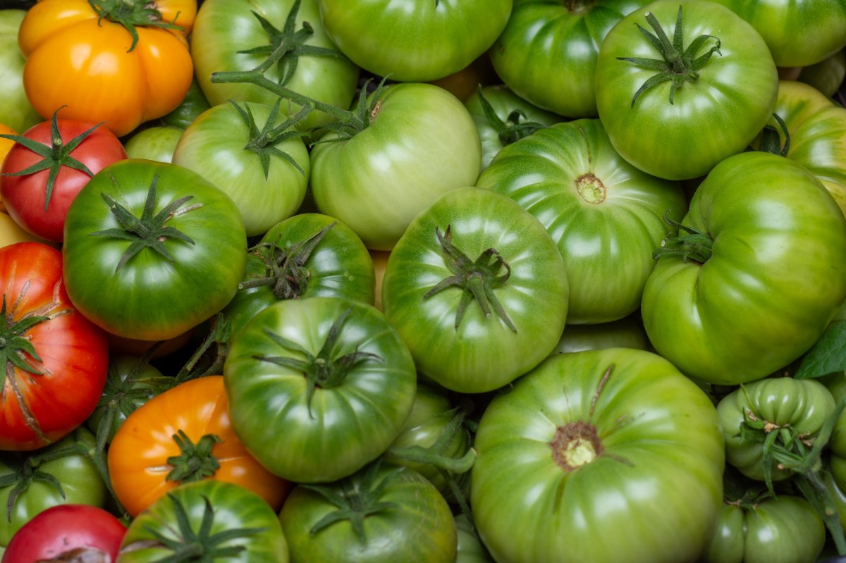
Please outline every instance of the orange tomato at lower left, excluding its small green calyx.
[{"label": "orange tomato at lower left, excluding its small green calyx", "polygon": [[219,467],[202,478],[239,484],[273,510],[281,508],[292,485],[267,471],[246,450],[229,424],[228,404],[223,376],[207,375],[154,396],[126,418],[108,447],[107,460],[115,495],[130,515],[135,517],[179,485],[167,478],[179,466],[173,458],[184,453],[173,437],[179,431],[193,445],[200,445],[206,435],[219,439],[206,439],[213,443],[211,456]]}]

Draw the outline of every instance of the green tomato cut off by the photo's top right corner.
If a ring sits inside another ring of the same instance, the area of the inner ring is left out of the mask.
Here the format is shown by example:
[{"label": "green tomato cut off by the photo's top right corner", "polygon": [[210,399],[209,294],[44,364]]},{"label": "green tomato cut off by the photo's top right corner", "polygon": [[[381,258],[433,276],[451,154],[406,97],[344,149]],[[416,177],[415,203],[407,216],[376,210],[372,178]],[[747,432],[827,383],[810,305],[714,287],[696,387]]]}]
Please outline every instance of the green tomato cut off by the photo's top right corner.
[{"label": "green tomato cut off by the photo's top right corner", "polygon": [[779,67],[819,63],[846,46],[844,0],[715,0],[748,21]]}]

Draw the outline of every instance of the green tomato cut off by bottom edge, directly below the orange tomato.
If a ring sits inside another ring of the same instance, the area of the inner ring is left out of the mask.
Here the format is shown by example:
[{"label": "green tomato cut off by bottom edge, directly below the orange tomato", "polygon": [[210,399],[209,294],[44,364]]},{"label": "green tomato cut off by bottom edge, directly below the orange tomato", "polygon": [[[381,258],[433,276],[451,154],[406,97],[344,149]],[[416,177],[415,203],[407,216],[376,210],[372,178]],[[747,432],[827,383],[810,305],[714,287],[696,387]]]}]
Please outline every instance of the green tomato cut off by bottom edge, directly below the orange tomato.
[{"label": "green tomato cut off by bottom edge, directly below the orange tomato", "polygon": [[181,484],[142,511],[115,563],[184,560],[178,554],[185,553],[190,560],[288,563],[276,512],[249,489],[217,479]]}]

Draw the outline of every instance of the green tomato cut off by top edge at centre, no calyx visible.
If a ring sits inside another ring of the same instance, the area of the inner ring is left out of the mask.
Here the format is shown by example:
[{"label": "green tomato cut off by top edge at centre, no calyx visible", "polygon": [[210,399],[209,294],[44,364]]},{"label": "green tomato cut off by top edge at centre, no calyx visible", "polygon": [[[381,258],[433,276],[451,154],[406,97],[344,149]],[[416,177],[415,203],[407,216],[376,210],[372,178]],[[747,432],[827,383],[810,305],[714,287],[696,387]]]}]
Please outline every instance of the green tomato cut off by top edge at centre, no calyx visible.
[{"label": "green tomato cut off by top edge at centre, no calyx visible", "polygon": [[409,82],[459,72],[492,46],[513,0],[318,0],[327,34],[352,61]]}]

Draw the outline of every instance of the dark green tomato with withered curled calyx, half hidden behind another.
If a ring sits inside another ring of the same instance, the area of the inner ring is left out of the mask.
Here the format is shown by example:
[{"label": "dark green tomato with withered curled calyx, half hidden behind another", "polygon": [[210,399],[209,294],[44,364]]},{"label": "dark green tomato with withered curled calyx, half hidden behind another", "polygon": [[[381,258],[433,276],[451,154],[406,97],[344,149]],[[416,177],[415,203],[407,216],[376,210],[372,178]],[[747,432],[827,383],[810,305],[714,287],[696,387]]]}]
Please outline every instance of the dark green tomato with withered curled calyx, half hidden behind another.
[{"label": "dark green tomato with withered curled calyx, half hidden behind another", "polygon": [[370,252],[346,225],[320,213],[278,222],[247,254],[244,281],[223,309],[237,333],[282,299],[338,297],[372,305],[376,272]]}]

